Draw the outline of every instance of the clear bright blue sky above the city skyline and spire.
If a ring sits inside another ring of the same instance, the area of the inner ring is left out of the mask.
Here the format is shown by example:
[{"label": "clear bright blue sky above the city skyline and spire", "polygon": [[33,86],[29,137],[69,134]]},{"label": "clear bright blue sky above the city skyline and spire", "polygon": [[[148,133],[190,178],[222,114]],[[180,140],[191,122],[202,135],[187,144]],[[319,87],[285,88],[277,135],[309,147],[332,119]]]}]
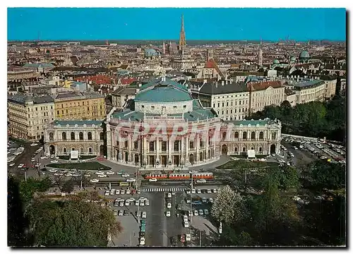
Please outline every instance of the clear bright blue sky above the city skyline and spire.
[{"label": "clear bright blue sky above the city skyline and spire", "polygon": [[346,40],[345,8],[8,8],[8,40]]}]

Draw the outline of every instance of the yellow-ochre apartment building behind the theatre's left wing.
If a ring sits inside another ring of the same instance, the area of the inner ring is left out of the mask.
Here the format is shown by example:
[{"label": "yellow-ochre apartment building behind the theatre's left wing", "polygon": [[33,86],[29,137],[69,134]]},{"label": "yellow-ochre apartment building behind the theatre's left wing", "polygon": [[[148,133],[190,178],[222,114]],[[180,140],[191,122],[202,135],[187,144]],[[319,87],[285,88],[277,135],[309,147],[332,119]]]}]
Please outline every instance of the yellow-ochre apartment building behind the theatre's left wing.
[{"label": "yellow-ochre apartment building behind the theatre's left wing", "polygon": [[102,120],[104,96],[97,92],[58,92],[54,95],[56,120]]}]

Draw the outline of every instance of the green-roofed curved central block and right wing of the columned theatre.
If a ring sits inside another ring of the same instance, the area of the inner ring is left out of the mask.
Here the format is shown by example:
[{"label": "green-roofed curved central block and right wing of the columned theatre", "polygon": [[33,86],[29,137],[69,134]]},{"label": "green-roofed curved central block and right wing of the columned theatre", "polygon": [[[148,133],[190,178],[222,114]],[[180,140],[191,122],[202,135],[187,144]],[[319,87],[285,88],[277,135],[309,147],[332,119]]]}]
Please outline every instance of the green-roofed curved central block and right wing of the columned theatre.
[{"label": "green-roofed curved central block and right wing of the columned theatre", "polygon": [[123,111],[109,112],[105,123],[107,159],[131,166],[189,167],[222,154],[280,151],[280,121],[222,121],[186,86],[165,77],[142,85]]}]

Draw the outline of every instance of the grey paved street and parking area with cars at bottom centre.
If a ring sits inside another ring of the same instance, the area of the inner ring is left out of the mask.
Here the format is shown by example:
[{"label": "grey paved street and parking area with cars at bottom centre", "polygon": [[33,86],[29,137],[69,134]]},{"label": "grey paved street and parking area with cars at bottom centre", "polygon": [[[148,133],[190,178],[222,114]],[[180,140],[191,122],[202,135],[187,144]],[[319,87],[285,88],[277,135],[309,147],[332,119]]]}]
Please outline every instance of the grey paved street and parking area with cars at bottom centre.
[{"label": "grey paved street and parking area with cars at bottom centre", "polygon": [[[212,189],[213,190],[213,189]],[[125,190],[126,191],[126,190]],[[105,191],[100,193],[104,195]],[[139,235],[139,224],[136,212],[139,210],[140,215],[145,212],[145,246],[198,246],[200,241],[200,232],[202,235],[203,244],[210,242],[212,238],[217,235],[217,229],[213,224],[210,223],[210,207],[209,202],[215,198],[216,193],[207,193],[206,189],[198,191],[195,190],[195,194],[192,195],[193,200],[198,200],[201,205],[192,205],[193,217],[192,220],[189,217],[190,194],[184,192],[169,193],[171,198],[168,198],[168,192],[149,192],[136,194],[124,194],[124,195],[109,195],[106,198],[111,200],[121,199],[124,200],[123,204],[117,204],[119,206],[113,206],[112,208],[116,211],[117,219],[121,222],[124,227],[124,231],[119,236],[113,238],[115,246],[137,246],[138,235]],[[133,198],[133,202],[129,202],[126,206],[126,200]],[[149,204],[146,205],[144,202],[141,206],[140,202],[136,206],[136,200],[147,199]],[[170,203],[170,208],[167,204]],[[123,206],[120,206],[123,205]],[[195,215],[195,210],[198,211],[198,215]],[[200,214],[202,210],[203,215]],[[126,215],[119,215],[119,211],[126,211]],[[170,212],[170,214],[167,212]],[[208,214],[205,214],[205,211]],[[179,214],[179,215],[178,215]],[[184,226],[183,215],[186,214],[189,219],[189,227]],[[182,243],[181,235],[191,234],[191,241]]]}]

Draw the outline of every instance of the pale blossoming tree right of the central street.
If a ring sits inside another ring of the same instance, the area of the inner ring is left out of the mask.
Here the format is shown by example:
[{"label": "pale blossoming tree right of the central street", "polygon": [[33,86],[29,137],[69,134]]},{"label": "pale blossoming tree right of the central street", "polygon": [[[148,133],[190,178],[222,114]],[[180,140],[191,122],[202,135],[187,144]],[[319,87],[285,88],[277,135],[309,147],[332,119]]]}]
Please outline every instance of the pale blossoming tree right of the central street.
[{"label": "pale blossoming tree right of the central street", "polygon": [[215,197],[211,208],[212,216],[217,222],[230,223],[243,217],[244,205],[241,195],[233,191],[229,186],[221,189]]}]

